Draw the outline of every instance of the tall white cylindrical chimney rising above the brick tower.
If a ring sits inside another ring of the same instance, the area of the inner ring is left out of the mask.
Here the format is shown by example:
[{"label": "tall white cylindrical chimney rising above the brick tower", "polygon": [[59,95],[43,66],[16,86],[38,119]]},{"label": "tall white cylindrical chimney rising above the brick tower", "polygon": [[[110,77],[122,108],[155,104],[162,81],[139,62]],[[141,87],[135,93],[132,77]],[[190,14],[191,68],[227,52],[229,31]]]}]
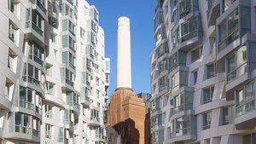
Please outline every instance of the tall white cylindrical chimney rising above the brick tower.
[{"label": "tall white cylindrical chimney rising above the brick tower", "polygon": [[117,48],[117,89],[131,89],[131,36],[130,20],[119,17]]}]

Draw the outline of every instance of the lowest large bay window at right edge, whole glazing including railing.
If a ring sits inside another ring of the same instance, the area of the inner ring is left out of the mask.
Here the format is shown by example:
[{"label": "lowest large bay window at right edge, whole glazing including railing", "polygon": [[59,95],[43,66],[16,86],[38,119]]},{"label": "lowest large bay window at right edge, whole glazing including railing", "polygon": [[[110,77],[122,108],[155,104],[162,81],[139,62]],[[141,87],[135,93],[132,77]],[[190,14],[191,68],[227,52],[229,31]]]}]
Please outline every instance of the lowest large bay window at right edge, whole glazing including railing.
[{"label": "lowest large bay window at right edge, whole glazing including railing", "polygon": [[255,84],[251,81],[236,90],[236,118],[255,109]]}]

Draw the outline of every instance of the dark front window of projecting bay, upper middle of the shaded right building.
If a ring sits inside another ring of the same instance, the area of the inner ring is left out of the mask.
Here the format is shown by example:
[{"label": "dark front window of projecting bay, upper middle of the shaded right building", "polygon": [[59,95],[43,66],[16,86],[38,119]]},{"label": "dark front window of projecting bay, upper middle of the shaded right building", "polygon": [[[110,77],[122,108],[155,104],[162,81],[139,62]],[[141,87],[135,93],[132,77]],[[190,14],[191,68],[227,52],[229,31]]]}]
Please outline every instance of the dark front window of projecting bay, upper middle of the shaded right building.
[{"label": "dark front window of projecting bay, upper middle of the shaded right building", "polygon": [[185,42],[197,36],[197,17],[194,17],[181,25],[181,42]]}]

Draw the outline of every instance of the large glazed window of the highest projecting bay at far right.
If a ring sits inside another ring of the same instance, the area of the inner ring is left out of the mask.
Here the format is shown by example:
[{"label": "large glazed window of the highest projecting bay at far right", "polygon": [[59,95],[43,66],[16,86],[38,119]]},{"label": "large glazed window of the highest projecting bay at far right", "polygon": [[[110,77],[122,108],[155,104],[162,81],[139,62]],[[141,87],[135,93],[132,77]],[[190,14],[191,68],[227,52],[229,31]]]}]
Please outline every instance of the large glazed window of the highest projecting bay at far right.
[{"label": "large glazed window of the highest projecting bay at far right", "polygon": [[237,8],[218,26],[218,53],[239,37],[238,18]]}]

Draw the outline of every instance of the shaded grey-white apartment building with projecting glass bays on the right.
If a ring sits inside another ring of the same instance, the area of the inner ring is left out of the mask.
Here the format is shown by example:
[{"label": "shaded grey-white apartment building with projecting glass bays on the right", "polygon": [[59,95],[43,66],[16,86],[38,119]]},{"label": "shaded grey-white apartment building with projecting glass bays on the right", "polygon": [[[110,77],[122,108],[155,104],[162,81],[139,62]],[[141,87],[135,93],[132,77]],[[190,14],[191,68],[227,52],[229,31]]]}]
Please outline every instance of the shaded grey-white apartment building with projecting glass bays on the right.
[{"label": "shaded grey-white apartment building with projecting glass bays on the right", "polygon": [[157,1],[153,143],[256,142],[255,36],[255,0]]}]

